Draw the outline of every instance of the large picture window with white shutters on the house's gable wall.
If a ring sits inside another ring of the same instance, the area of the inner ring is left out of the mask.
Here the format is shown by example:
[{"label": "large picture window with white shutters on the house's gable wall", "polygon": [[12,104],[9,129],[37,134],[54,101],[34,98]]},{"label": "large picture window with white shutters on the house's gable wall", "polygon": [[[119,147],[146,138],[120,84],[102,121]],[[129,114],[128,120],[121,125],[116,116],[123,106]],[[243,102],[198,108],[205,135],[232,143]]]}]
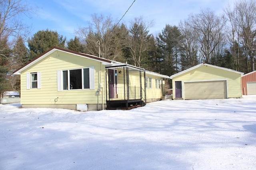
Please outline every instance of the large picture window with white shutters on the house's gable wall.
[{"label": "large picture window with white shutters on the house's gable wall", "polygon": [[62,90],[94,89],[94,67],[58,71],[58,90],[60,85]]}]

